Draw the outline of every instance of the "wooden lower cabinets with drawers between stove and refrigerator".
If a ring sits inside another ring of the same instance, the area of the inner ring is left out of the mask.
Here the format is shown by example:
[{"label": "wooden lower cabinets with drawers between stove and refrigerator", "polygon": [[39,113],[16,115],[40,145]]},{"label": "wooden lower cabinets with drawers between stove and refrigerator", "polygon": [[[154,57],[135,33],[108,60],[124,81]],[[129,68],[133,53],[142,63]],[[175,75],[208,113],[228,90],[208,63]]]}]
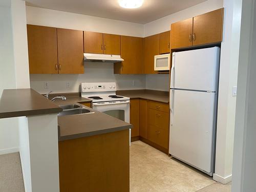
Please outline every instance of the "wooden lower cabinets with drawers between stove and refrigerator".
[{"label": "wooden lower cabinets with drawers between stove and refrigerator", "polygon": [[[132,141],[139,139],[168,152],[169,143],[169,105],[146,99],[131,99],[130,122]],[[138,120],[137,120],[138,119]]]}]

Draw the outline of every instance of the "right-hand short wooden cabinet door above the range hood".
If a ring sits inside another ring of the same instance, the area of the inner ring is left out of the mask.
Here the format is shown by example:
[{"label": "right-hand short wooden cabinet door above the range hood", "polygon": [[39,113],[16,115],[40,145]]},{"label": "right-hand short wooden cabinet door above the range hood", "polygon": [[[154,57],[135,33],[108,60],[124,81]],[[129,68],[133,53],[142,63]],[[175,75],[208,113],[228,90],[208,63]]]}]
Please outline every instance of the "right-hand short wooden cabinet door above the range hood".
[{"label": "right-hand short wooden cabinet door above the range hood", "polygon": [[103,34],[103,41],[104,41],[104,54],[110,55],[120,55],[120,48],[121,48],[121,37],[120,35],[113,35],[113,34]]}]

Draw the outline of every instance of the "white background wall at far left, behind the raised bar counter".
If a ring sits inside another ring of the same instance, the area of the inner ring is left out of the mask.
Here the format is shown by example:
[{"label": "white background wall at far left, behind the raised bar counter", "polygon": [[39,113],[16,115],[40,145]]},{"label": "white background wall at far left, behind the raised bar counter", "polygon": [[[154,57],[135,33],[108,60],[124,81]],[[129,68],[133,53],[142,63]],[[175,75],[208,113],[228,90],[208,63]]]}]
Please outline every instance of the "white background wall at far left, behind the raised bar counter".
[{"label": "white background wall at far left, behind the raised bar counter", "polygon": [[[4,89],[16,88],[10,6],[10,1],[0,5],[0,96]],[[0,119],[0,154],[16,152],[18,146],[17,118]]]}]

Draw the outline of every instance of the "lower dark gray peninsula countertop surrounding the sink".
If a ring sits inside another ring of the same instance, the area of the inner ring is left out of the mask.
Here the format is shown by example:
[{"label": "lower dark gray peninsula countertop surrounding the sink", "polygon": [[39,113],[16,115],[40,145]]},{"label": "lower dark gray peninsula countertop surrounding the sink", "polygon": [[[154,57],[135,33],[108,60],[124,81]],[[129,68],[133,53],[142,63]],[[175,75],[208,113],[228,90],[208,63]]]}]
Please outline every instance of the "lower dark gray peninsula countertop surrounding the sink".
[{"label": "lower dark gray peninsula countertop surrounding the sink", "polygon": [[[90,99],[87,100],[87,102]],[[66,101],[56,100],[57,104],[75,104],[84,102],[84,98],[77,100],[75,97],[67,97]],[[91,101],[91,100],[90,100]],[[87,106],[94,113],[58,116],[59,141],[88,137],[99,134],[106,134],[121,130],[131,129],[132,125],[112,116],[95,111]]]}]

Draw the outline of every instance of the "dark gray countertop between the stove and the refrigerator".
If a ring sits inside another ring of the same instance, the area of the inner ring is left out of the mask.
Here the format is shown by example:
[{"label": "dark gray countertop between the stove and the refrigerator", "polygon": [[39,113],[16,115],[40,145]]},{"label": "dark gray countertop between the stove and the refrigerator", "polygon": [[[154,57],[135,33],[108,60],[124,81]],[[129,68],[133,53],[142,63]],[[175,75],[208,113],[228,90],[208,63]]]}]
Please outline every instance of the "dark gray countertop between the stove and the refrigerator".
[{"label": "dark gray countertop between the stove and the refrigerator", "polygon": [[120,90],[117,95],[130,97],[131,99],[148,99],[162,103],[169,103],[169,92],[156,90]]}]

